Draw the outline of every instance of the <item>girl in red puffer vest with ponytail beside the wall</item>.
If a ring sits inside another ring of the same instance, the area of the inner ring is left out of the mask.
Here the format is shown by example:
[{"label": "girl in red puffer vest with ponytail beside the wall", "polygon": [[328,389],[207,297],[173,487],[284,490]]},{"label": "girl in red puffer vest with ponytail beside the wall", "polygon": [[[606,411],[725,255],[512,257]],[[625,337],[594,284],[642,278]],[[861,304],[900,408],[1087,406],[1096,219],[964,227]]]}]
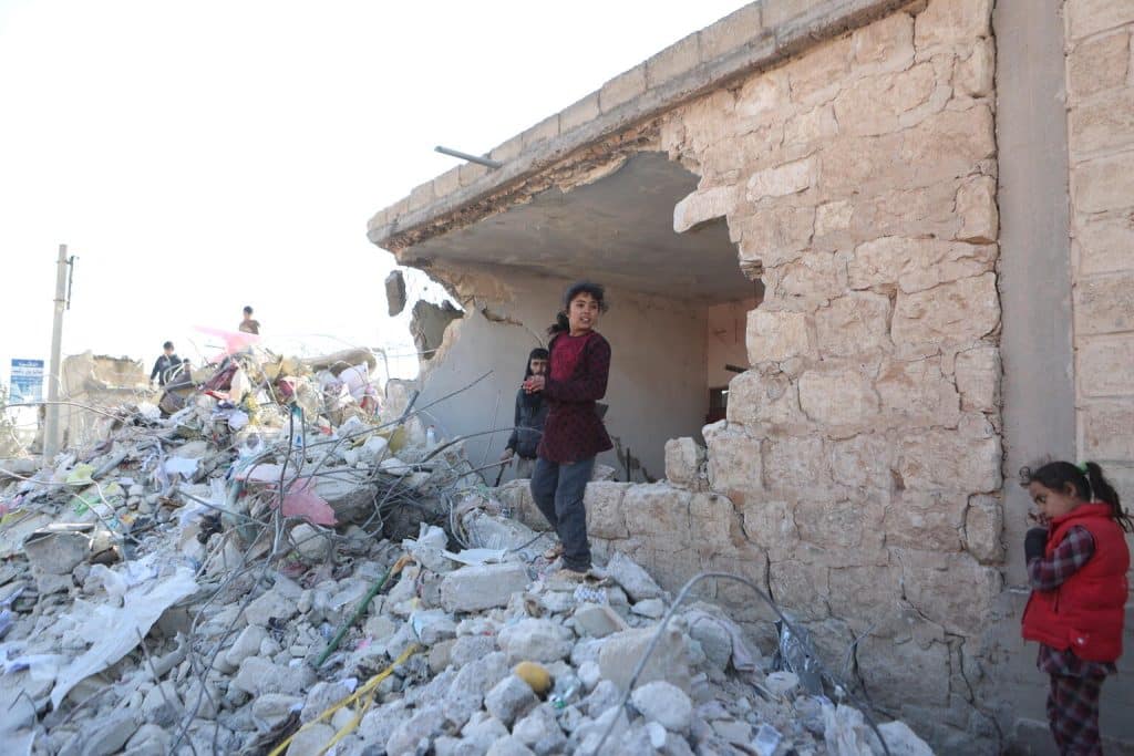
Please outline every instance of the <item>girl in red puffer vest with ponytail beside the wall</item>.
[{"label": "girl in red puffer vest with ponytail beside the wall", "polygon": [[1134,521],[1094,462],[1048,462],[1019,472],[1042,527],[1024,553],[1032,595],[1023,635],[1040,643],[1051,677],[1048,725],[1060,754],[1101,754],[1099,694],[1122,655]]}]

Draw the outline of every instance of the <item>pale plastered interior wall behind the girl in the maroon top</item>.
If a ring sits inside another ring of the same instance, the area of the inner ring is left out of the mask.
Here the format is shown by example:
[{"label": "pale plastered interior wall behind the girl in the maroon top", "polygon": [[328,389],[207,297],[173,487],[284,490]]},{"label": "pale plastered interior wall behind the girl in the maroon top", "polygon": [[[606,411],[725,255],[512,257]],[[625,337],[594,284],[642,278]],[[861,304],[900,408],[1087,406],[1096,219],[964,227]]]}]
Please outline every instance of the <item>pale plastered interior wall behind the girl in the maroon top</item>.
[{"label": "pale plastered interior wall behind the girl in the maroon top", "polygon": [[[475,377],[492,375],[432,410],[448,436],[480,433],[513,425],[516,391],[528,352],[545,346],[545,329],[555,320],[562,292],[570,283],[521,271],[498,275],[454,275],[465,316],[450,324],[441,351],[421,379],[422,405],[456,391]],[[595,275],[601,281],[601,275]],[[599,332],[612,351],[604,404],[607,431],[652,478],[665,474],[667,439],[696,433],[708,409],[703,308],[668,297],[650,297],[608,289],[610,312]],[[496,460],[508,432],[471,439],[468,458],[480,466]],[[617,449],[617,447],[616,447]],[[618,470],[615,452],[599,461]],[[641,477],[641,470],[635,479]],[[489,475],[489,477],[494,477]]]}]

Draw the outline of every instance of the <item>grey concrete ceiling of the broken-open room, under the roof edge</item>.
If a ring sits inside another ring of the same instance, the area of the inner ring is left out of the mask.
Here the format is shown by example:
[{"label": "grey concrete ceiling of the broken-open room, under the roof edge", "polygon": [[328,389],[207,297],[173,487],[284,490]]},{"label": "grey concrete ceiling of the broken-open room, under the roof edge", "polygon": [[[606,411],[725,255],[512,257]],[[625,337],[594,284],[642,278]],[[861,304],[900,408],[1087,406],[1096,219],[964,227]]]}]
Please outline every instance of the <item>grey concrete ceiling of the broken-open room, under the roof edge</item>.
[{"label": "grey concrete ceiling of the broken-open room, under the roof edge", "polygon": [[549,189],[524,205],[413,247],[439,263],[501,265],[703,301],[753,296],[725,221],[674,232],[674,205],[697,177],[646,152],[594,184]]}]

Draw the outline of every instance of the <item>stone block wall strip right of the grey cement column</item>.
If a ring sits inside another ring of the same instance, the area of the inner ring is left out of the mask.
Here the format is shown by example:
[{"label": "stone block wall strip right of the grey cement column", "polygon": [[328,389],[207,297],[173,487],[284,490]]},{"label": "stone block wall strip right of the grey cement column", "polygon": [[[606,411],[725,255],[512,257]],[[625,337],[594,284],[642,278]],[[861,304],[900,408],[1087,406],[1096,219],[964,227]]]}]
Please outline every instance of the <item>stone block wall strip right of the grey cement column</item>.
[{"label": "stone block wall strip right of the grey cement column", "polygon": [[1134,3],[1067,0],[1078,450],[1134,500]]}]

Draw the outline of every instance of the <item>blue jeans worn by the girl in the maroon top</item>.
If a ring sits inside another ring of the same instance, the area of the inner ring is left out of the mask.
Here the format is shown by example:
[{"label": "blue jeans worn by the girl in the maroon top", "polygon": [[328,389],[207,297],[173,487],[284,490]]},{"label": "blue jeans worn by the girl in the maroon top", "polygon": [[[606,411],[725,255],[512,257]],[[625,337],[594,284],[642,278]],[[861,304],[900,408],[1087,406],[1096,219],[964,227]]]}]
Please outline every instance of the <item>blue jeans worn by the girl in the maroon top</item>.
[{"label": "blue jeans worn by the girl in the maroon top", "polygon": [[591,569],[591,542],[586,538],[583,495],[594,472],[594,457],[560,465],[540,457],[532,473],[535,506],[564,545],[564,567],[579,572]]}]

